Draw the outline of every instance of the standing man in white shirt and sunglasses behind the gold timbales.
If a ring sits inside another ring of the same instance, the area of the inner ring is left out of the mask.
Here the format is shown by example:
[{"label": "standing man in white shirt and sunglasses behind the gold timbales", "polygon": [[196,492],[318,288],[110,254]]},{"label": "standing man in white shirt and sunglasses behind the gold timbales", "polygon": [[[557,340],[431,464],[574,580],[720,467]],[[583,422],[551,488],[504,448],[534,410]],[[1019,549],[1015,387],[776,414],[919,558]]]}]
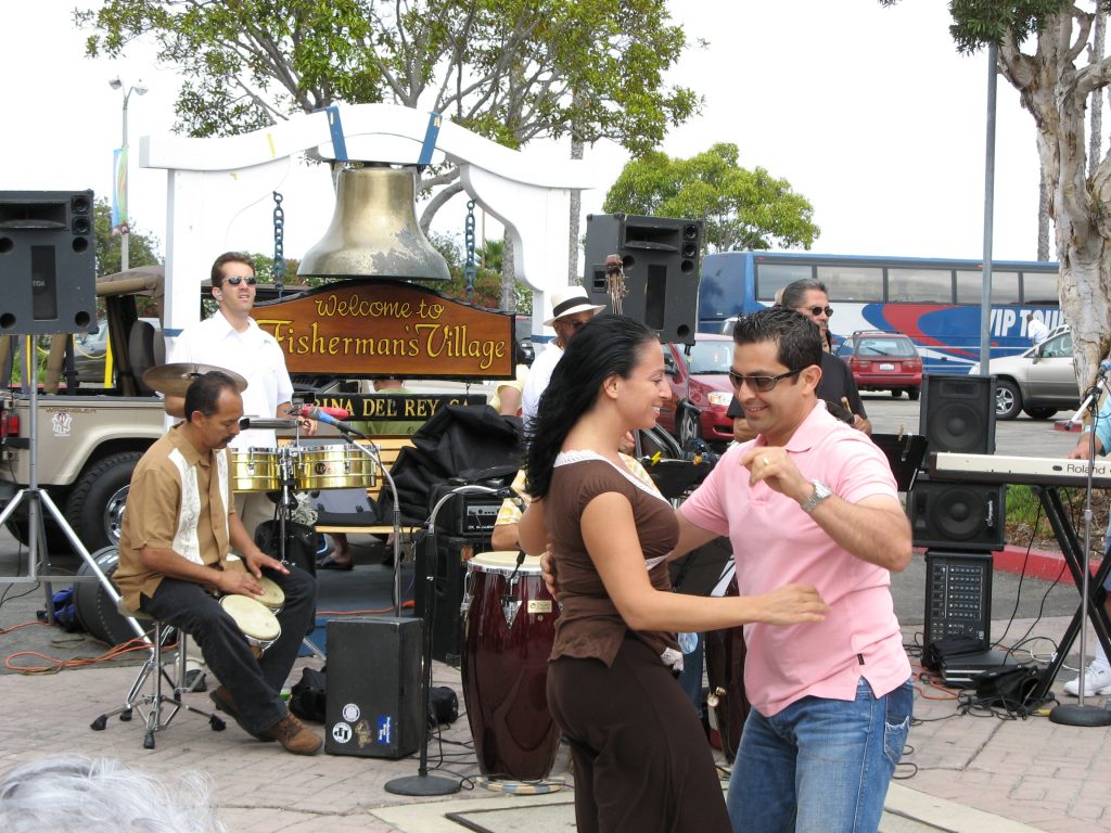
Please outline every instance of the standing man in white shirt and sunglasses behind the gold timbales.
[{"label": "standing man in white shirt and sunglasses behind the gold timbales", "polygon": [[[289,418],[293,383],[286,370],[286,357],[278,341],[251,318],[256,294],[254,262],[240,252],[224,252],[212,264],[212,298],[220,304],[211,318],[187,328],[174,339],[168,361],[212,364],[239,373],[247,380],[243,414],[247,416]],[[182,397],[166,398],[166,411],[184,418]],[[316,422],[304,420],[302,433],[311,435]],[[273,449],[278,438],[272,430],[240,431],[229,443],[232,449]],[[274,506],[266,492],[239,492],[236,511],[247,531],[273,518]]]}]

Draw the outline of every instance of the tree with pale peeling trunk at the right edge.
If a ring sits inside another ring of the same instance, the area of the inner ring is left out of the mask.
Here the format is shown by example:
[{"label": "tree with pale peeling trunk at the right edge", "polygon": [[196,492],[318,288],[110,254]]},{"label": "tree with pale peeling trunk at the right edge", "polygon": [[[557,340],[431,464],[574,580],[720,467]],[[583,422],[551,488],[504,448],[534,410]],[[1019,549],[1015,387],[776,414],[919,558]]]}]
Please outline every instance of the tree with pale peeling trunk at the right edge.
[{"label": "tree with pale peeling trunk at the right edge", "polygon": [[[890,6],[898,0],[880,0]],[[1077,378],[1094,378],[1111,347],[1111,158],[1088,172],[1088,99],[1111,82],[1111,59],[1089,40],[1089,11],[1069,0],[950,0],[959,51],[999,49],[999,71],[1037,126],[1049,214],[1061,264],[1058,293],[1072,328]]]}]

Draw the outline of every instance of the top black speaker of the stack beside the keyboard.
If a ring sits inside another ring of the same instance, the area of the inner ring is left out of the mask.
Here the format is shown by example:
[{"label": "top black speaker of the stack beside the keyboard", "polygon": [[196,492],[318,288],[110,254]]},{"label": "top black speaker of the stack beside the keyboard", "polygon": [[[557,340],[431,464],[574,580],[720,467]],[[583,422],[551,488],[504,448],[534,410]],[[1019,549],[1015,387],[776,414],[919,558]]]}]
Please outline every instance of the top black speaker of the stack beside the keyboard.
[{"label": "top black speaker of the stack beside the keyboard", "polygon": [[995,377],[922,377],[918,432],[930,452],[995,453]]}]

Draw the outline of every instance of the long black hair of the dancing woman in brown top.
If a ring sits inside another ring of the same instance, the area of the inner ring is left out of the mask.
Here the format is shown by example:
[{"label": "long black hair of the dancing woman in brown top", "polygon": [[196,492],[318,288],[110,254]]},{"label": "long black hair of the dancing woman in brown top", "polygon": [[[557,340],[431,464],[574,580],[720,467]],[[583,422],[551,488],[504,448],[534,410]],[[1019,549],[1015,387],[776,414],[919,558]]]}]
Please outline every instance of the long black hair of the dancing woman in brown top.
[{"label": "long black hair of the dancing woman in brown top", "polygon": [[579,419],[594,407],[609,377],[628,379],[644,344],[657,342],[654,330],[625,315],[594,315],[568,342],[540,397],[529,431],[526,490],[543,498],[563,441]]}]

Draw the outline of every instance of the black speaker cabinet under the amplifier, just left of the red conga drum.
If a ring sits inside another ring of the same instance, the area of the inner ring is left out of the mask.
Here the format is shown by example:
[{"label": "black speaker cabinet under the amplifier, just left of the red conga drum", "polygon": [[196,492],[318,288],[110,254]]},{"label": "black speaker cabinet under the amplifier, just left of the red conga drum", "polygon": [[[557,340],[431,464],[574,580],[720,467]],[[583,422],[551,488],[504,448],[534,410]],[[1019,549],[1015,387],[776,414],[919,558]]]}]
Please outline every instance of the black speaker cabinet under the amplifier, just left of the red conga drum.
[{"label": "black speaker cabinet under the amplifier, just left of the red conga drum", "polygon": [[[463,601],[463,582],[467,578],[467,562],[481,552],[489,552],[490,538],[473,535],[437,535],[436,545],[436,608],[432,611],[432,659],[459,668],[462,654],[463,624],[459,606]],[[427,538],[417,551],[416,586],[413,609],[418,616],[427,619],[428,569],[433,539]]]}]

